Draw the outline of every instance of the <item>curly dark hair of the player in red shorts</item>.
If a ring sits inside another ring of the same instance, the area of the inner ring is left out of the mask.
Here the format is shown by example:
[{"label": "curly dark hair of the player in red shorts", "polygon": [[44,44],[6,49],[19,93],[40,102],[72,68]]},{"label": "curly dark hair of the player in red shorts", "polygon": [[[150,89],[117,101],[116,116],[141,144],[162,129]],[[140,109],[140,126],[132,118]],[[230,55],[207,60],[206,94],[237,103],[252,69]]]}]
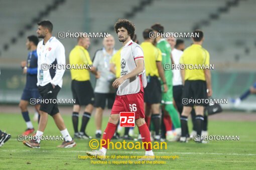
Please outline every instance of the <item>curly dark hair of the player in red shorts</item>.
[{"label": "curly dark hair of the player in red shorts", "polygon": [[114,24],[114,30],[115,33],[117,33],[117,29],[124,27],[127,29],[128,34],[131,36],[131,38],[134,38],[134,33],[135,33],[135,25],[127,19],[118,19],[117,22]]}]

